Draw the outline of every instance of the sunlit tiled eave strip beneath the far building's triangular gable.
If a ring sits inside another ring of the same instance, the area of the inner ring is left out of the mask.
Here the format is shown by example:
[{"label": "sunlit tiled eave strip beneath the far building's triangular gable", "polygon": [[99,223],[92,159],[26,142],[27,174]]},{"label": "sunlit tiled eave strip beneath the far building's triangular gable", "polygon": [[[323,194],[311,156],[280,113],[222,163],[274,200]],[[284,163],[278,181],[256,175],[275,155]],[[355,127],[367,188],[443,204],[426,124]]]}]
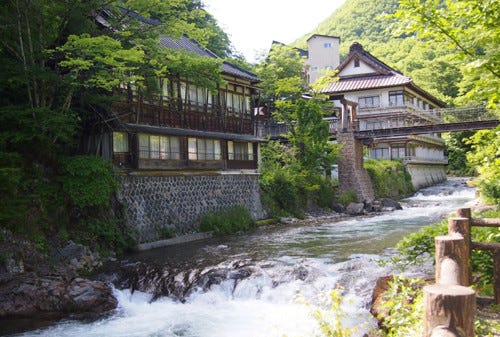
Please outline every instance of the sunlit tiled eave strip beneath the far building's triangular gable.
[{"label": "sunlit tiled eave strip beneath the far building's triangular gable", "polygon": [[411,78],[400,74],[341,78],[338,82],[330,83],[328,87],[322,89],[321,92],[335,94],[348,91],[408,85],[411,82]]}]

